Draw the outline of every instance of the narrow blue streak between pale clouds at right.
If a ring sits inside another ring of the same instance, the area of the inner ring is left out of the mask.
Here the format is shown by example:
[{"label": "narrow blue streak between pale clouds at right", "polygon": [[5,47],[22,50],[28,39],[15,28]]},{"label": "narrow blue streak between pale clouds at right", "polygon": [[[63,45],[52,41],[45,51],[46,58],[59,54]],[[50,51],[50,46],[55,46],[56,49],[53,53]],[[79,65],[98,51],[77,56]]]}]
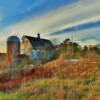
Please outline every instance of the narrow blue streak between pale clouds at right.
[{"label": "narrow blue streak between pale clouds at right", "polygon": [[[100,17],[99,17],[100,18]],[[65,34],[65,33],[71,33],[71,32],[78,32],[78,31],[83,31],[83,30],[87,30],[90,28],[95,28],[95,27],[99,27],[100,26],[100,20],[97,21],[96,20],[89,20],[89,21],[82,21],[82,23],[77,23],[77,24],[73,24],[72,26],[68,26],[65,29],[50,33],[50,35],[59,35],[59,34]]]}]

